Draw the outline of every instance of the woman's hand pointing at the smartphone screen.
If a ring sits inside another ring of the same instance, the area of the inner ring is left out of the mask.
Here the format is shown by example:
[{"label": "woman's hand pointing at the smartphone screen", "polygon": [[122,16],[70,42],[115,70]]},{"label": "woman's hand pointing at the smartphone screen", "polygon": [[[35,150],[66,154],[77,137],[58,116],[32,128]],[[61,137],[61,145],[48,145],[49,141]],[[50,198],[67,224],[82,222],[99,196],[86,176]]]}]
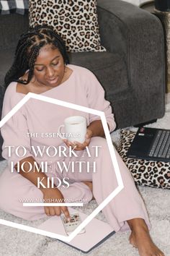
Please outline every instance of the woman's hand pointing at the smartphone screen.
[{"label": "woman's hand pointing at the smartphone screen", "polygon": [[[42,189],[42,193],[45,202],[64,202],[64,197],[57,188]],[[47,216],[60,216],[63,213],[66,218],[70,218],[70,213],[66,206],[45,206],[44,209]]]}]

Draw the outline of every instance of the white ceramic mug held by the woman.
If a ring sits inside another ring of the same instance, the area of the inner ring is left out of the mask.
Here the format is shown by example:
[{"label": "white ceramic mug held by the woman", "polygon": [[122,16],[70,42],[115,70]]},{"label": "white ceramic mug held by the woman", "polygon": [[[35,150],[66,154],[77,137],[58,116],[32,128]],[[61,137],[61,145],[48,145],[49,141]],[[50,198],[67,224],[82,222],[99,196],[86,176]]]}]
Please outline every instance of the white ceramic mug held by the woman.
[{"label": "white ceramic mug held by the woman", "polygon": [[64,120],[64,124],[58,128],[61,134],[61,128],[65,127],[66,136],[60,135],[61,139],[67,139],[71,142],[77,141],[83,143],[86,135],[86,118],[84,116],[70,116]]}]

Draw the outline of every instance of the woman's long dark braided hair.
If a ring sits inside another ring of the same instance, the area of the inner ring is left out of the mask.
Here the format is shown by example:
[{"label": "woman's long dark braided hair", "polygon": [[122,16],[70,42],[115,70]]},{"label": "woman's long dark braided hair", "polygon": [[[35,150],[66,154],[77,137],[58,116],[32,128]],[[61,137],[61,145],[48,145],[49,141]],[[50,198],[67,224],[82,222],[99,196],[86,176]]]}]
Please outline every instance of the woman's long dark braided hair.
[{"label": "woman's long dark braided hair", "polygon": [[[48,25],[37,25],[31,27],[28,33],[21,35],[14,55],[12,67],[6,73],[4,82],[5,88],[10,82],[19,82],[22,85],[27,85],[32,79],[34,72],[34,64],[39,54],[40,48],[47,44],[51,44],[58,48],[63,56],[63,61],[68,64],[68,54],[66,46],[62,38],[55,33],[53,27]],[[29,70],[27,80],[19,79],[24,73]]]}]

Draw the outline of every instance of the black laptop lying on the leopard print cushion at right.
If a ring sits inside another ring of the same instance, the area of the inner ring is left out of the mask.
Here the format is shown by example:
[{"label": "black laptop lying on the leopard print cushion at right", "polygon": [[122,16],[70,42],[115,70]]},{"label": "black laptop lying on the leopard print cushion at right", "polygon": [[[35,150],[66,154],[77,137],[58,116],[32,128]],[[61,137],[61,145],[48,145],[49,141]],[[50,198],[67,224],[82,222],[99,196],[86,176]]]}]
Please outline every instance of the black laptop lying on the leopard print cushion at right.
[{"label": "black laptop lying on the leopard print cushion at right", "polygon": [[150,161],[170,162],[170,130],[140,127],[127,156]]}]

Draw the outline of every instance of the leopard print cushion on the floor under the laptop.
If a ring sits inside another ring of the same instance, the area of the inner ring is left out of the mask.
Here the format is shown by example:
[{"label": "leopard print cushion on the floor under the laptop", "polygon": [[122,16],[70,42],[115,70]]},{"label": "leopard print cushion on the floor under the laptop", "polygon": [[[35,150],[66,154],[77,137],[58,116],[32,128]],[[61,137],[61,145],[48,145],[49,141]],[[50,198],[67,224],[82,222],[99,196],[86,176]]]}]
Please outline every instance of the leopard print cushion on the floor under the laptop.
[{"label": "leopard print cushion on the floor under the laptop", "polygon": [[142,186],[170,189],[170,163],[146,161],[126,156],[134,137],[135,132],[122,129],[120,145],[117,151],[120,153],[126,166],[128,166],[135,183]]}]

